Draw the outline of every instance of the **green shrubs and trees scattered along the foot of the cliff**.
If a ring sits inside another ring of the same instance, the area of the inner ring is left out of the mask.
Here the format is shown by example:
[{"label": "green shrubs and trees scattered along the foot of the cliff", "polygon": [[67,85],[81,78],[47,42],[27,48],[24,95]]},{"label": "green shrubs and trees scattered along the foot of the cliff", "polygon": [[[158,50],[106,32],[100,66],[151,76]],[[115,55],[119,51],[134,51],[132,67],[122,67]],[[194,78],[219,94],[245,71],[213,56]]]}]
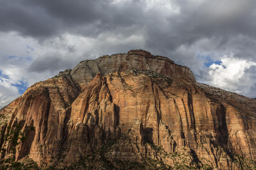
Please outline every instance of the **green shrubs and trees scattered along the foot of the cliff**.
[{"label": "green shrubs and trees scattered along the foot of the cliff", "polygon": [[[3,118],[3,115],[0,115]],[[1,159],[0,170],[57,170],[55,167],[48,167],[41,169],[38,165],[28,156],[15,161],[14,155],[16,147],[19,144],[26,141],[26,135],[29,131],[35,130],[35,127],[30,127],[29,130],[21,132],[21,126],[16,125],[15,128],[8,128],[6,134],[1,130]],[[128,134],[131,129],[128,129]],[[115,148],[119,147],[119,140],[131,140],[132,136],[121,136],[120,139],[107,139],[106,142],[95,150],[94,153],[89,154],[75,164],[71,164],[68,167],[61,168],[62,170],[212,170],[208,164],[202,164],[201,161],[191,155],[189,148],[181,148],[182,152],[175,151],[173,153],[167,153],[161,145],[155,145],[151,143],[145,143],[145,146],[149,146],[155,151],[156,158],[150,157],[143,158],[141,161],[121,160],[117,158],[111,158],[108,153],[112,153]],[[7,152],[5,147],[8,144],[10,147]],[[6,156],[8,155],[8,158]],[[234,167],[237,170],[256,170],[256,163],[247,158],[245,149],[230,150],[230,156]],[[166,164],[163,159],[165,157],[174,160],[174,164]],[[191,159],[193,158],[193,159]]]}]

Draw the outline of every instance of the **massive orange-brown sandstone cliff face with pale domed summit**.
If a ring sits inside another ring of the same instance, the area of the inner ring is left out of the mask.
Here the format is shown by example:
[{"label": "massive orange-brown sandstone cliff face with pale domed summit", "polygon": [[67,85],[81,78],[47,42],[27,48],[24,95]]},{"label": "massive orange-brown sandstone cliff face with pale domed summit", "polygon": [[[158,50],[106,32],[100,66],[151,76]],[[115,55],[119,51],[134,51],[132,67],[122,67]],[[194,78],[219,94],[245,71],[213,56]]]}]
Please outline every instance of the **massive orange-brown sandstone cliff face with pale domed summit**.
[{"label": "massive orange-brown sandstone cliff face with pale domed summit", "polygon": [[41,167],[68,166],[114,139],[110,161],[173,166],[185,155],[187,164],[232,169],[227,148],[241,147],[256,160],[255,99],[198,83],[189,68],[143,50],[82,61],[0,113],[3,130],[36,127],[15,159],[29,155]]}]

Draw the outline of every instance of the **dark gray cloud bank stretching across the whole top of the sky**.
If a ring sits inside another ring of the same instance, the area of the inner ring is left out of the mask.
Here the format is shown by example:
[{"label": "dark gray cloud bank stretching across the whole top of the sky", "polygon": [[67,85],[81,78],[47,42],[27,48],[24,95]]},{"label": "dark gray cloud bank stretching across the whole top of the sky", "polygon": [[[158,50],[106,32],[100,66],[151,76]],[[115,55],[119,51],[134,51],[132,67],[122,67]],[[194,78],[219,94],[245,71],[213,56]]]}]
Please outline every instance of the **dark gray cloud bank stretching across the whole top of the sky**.
[{"label": "dark gray cloud bank stretching across the whole top of the sky", "polygon": [[[106,31],[127,36],[140,32],[145,48],[167,56],[181,45],[189,47],[204,38],[217,40],[213,50],[226,50],[230,38],[239,34],[246,40],[237,42],[242,42],[238,48],[243,50],[248,45],[255,45],[254,0],[205,0],[200,3],[174,0],[172,4],[179,8],[179,13],[161,8],[145,10],[147,4],[142,0],[112,2],[21,0],[13,3],[2,0],[0,30],[18,31],[25,36],[43,39],[65,32],[85,37],[97,37]],[[248,37],[253,37],[253,42]],[[237,50],[235,57],[254,56]]]}]

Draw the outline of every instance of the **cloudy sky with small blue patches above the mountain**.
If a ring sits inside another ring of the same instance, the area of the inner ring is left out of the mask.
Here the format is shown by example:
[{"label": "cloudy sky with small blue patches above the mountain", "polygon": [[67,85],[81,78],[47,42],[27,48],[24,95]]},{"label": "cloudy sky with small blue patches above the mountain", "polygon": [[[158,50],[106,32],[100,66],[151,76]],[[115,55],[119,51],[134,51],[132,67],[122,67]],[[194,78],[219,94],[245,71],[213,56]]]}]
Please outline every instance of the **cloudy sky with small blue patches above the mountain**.
[{"label": "cloudy sky with small blue patches above the mountain", "polygon": [[131,49],[256,98],[255,0],[0,0],[0,108],[82,60]]}]

